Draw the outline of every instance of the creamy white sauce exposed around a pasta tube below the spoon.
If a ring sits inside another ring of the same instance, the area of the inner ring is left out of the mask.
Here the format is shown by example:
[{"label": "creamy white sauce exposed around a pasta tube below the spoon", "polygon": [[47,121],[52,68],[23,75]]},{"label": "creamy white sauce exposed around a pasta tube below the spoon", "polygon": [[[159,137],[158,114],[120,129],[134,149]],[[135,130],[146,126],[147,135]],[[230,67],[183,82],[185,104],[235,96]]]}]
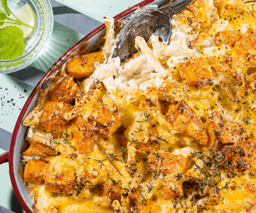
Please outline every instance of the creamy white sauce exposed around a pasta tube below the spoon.
[{"label": "creamy white sauce exposed around a pasta tube below the spoon", "polygon": [[[177,63],[183,62],[187,57],[198,55],[198,50],[191,50],[187,47],[187,39],[191,38],[190,33],[193,31],[191,27],[179,27],[179,23],[174,17],[172,19],[172,35],[169,45],[158,41],[158,36],[152,35],[150,41],[152,43],[153,55],[156,59],[161,57],[170,57],[167,61],[167,67],[171,68]],[[96,78],[104,83],[109,92],[116,89],[142,89],[147,87],[165,87],[163,84],[163,76],[172,80],[172,76],[166,71],[155,73],[155,69],[148,61],[146,56],[141,54],[137,58],[131,60],[125,65],[120,65],[119,57],[109,59],[107,63],[96,65],[94,74],[81,82],[80,88],[88,91],[89,86]]]}]

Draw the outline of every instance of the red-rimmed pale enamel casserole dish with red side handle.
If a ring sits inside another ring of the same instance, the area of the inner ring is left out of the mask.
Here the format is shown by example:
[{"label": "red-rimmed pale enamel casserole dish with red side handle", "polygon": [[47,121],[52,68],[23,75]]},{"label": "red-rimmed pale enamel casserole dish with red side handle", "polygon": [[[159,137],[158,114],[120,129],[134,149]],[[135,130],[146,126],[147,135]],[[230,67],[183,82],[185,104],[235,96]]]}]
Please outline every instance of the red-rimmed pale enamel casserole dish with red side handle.
[{"label": "red-rimmed pale enamel casserole dish with red side handle", "polygon": [[[125,10],[124,12],[116,15],[114,17],[115,21],[122,20],[128,16],[130,16],[135,10],[137,10],[140,7],[146,6],[146,5],[161,5],[165,2],[168,2],[166,0],[145,0],[141,3],[134,5],[133,7],[130,7],[129,9]],[[5,152],[4,154],[0,155],[0,164],[7,162],[9,160],[9,171],[10,171],[10,178],[12,182],[12,186],[14,189],[14,192],[24,208],[24,210],[27,213],[32,213],[32,203],[33,199],[29,196],[30,192],[28,190],[27,184],[23,184],[20,177],[23,176],[23,169],[24,165],[20,161],[20,155],[26,150],[28,147],[27,141],[25,141],[25,134],[27,130],[27,126],[24,126],[22,124],[22,121],[25,119],[29,111],[32,109],[32,107],[35,104],[35,100],[37,99],[37,91],[41,86],[43,85],[43,82],[51,76],[61,65],[62,63],[65,63],[71,54],[74,54],[76,50],[83,49],[84,45],[87,44],[87,41],[89,41],[89,45],[83,53],[89,53],[94,52],[94,44],[96,44],[96,41],[98,41],[99,37],[102,37],[105,34],[105,24],[102,24],[95,30],[93,30],[91,33],[86,35],[83,39],[81,39],[79,42],[74,44],[65,54],[63,54],[52,66],[51,68],[45,73],[45,75],[41,78],[41,80],[37,83],[33,91],[31,92],[30,96],[28,97],[26,103],[24,104],[18,120],[16,122],[16,125],[14,127],[14,131],[12,134],[12,140],[11,140],[11,146],[10,150],[8,152]]]}]

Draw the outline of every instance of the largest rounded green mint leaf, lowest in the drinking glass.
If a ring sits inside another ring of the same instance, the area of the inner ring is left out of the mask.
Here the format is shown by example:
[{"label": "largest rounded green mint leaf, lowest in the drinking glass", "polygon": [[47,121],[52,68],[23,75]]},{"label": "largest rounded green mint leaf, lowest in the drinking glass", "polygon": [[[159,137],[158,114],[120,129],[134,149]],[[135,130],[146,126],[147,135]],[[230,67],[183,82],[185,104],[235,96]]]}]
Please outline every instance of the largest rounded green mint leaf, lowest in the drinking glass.
[{"label": "largest rounded green mint leaf, lowest in the drinking glass", "polygon": [[15,26],[0,29],[0,59],[11,60],[22,55],[25,49],[23,34],[23,31]]}]

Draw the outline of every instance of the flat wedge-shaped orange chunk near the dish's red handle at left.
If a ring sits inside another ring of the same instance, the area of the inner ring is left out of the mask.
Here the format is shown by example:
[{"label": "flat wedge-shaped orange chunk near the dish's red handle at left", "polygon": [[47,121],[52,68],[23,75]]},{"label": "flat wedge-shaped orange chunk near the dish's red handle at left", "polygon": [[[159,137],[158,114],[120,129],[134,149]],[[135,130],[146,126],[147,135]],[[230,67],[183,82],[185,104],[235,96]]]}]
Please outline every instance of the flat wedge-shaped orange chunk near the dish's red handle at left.
[{"label": "flat wedge-shaped orange chunk near the dish's red handle at left", "polygon": [[40,155],[47,157],[57,155],[57,152],[51,147],[48,147],[42,143],[34,142],[25,152],[23,152],[23,154],[27,156]]}]

